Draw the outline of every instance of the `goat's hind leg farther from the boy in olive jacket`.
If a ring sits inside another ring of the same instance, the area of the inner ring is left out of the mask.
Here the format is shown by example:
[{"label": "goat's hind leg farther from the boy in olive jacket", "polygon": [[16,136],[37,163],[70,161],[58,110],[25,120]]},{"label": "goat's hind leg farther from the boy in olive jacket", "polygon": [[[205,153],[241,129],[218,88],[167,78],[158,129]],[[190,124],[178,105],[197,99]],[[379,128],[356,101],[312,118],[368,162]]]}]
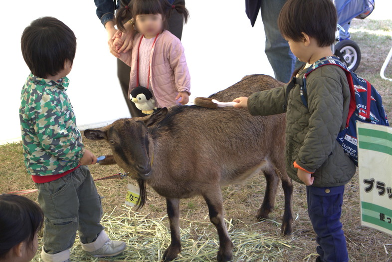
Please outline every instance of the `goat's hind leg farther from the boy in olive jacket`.
[{"label": "goat's hind leg farther from the boy in olive jacket", "polygon": [[268,168],[264,170],[263,173],[267,185],[265,188],[263,203],[257,210],[257,220],[268,219],[269,213],[271,213],[275,206],[276,192],[279,185],[279,177],[273,168]]}]

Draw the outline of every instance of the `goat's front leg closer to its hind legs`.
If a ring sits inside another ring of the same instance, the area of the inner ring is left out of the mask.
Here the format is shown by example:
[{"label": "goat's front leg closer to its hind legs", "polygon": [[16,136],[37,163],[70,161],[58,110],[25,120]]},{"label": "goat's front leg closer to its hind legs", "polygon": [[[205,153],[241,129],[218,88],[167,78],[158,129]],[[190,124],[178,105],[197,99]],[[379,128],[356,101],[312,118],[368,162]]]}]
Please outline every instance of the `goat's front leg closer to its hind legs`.
[{"label": "goat's front leg closer to its hind legs", "polygon": [[219,236],[219,251],[217,254],[218,262],[227,262],[233,259],[233,243],[227,233],[223,219],[223,200],[220,187],[211,188],[203,194],[204,200],[208,205],[209,219],[216,227]]}]

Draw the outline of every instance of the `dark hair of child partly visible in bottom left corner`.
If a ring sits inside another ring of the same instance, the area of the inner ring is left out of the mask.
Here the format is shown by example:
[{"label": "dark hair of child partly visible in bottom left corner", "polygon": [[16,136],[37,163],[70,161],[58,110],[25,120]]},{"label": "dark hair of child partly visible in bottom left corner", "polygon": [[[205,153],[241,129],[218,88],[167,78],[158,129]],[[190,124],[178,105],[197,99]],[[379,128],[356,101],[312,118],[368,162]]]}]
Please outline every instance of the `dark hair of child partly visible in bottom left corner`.
[{"label": "dark hair of child partly visible in bottom left corner", "polygon": [[34,201],[17,195],[0,195],[0,260],[19,243],[32,244],[42,223],[42,210]]}]

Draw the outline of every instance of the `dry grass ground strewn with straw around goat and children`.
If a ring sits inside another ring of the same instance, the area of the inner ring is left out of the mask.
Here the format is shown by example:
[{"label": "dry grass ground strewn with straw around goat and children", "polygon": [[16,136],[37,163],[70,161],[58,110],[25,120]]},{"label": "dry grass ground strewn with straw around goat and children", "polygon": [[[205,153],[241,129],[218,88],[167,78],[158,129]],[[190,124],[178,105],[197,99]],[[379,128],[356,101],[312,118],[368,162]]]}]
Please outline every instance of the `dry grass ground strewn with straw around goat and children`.
[{"label": "dry grass ground strewn with straw around goat and children", "polygon": [[[384,28],[379,34],[367,30]],[[354,20],[351,33],[362,51],[362,61],[357,73],[370,80],[382,93],[388,115],[392,116],[392,82],[381,79],[380,68],[391,48],[392,21]],[[386,75],[392,77],[390,63]],[[110,153],[101,141],[84,140],[96,155]],[[34,185],[24,170],[20,144],[0,147],[0,192],[32,189]],[[117,166],[91,166],[94,178],[122,172]],[[127,183],[131,179],[97,181],[105,215],[102,219],[108,235],[123,240],[128,248],[123,255],[108,261],[159,261],[170,244],[166,202],[148,188],[146,206],[135,213],[124,206]],[[261,205],[265,191],[262,175],[253,177],[243,185],[222,189],[227,226],[234,243],[234,261],[259,262],[313,262],[316,258],[316,241],[307,215],[305,186],[294,184],[292,236],[283,237],[280,222],[283,215],[283,191],[279,190],[275,210],[270,220],[257,223],[256,210]],[[37,193],[25,195],[36,200]],[[218,239],[215,228],[209,223],[208,209],[201,197],[182,201],[181,236],[183,251],[176,261],[216,261]],[[347,238],[350,261],[392,262],[391,236],[360,225],[358,175],[346,185],[342,223]],[[73,246],[71,259],[78,262],[99,261],[85,255],[80,245]],[[41,261],[39,254],[33,261]]]}]

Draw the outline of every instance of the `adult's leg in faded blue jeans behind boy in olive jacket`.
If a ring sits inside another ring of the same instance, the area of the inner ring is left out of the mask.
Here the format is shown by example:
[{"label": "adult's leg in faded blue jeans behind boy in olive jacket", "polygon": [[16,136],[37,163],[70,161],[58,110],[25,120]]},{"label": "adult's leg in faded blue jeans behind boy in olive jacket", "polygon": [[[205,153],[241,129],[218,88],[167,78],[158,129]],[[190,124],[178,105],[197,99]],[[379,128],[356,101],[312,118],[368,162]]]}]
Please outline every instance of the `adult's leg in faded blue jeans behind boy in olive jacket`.
[{"label": "adult's leg in faded blue jeans behind boy in olive jacket", "polygon": [[278,16],[286,0],[262,0],[261,18],[265,31],[265,54],[275,78],[287,83],[296,66],[296,57],[278,29]]}]

